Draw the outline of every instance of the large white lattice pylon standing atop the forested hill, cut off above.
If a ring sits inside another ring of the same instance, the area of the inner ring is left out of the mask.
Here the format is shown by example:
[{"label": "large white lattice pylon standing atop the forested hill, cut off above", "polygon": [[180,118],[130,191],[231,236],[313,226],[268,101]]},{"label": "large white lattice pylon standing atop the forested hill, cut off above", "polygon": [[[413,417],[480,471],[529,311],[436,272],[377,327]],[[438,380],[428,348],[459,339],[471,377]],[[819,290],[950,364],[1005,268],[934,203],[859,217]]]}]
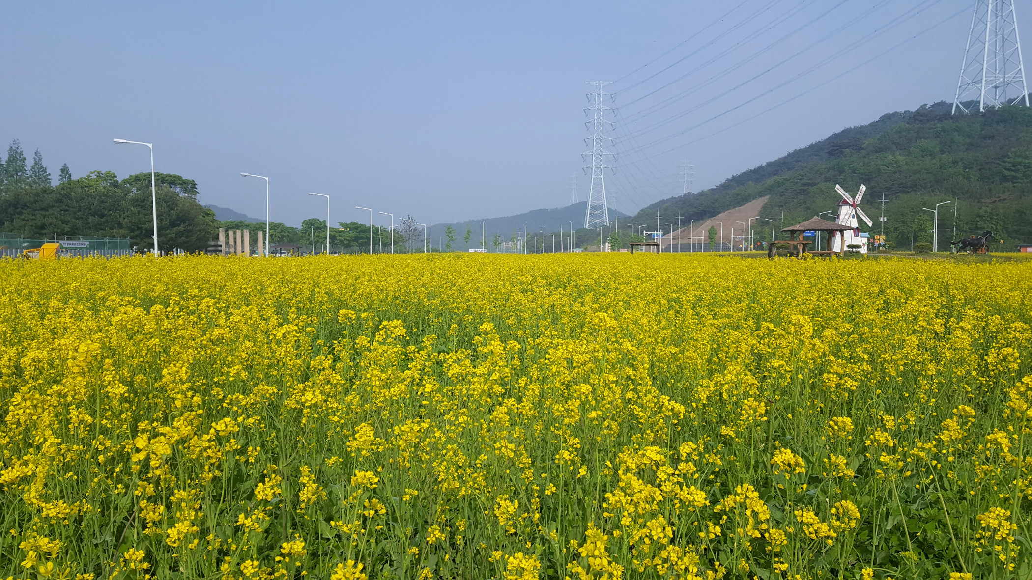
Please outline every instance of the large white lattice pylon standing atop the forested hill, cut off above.
[{"label": "large white lattice pylon standing atop the forested hill, cut off above", "polygon": [[979,112],[1021,101],[1029,105],[1014,0],[975,0],[953,112],[968,112],[964,101],[972,100]]}]

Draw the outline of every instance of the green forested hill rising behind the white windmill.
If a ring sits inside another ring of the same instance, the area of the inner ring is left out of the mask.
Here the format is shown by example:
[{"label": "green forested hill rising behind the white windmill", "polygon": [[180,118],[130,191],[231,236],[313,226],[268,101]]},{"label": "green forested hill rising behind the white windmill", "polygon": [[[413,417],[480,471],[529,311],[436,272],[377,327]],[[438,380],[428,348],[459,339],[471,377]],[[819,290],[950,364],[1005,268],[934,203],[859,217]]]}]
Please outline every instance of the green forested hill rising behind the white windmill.
[{"label": "green forested hill rising behind the white windmill", "polygon": [[[945,200],[956,200],[958,236],[989,229],[1004,240],[1000,249],[1032,243],[1032,109],[953,116],[938,102],[889,114],[715,188],[644,207],[635,221],[653,223],[657,206],[664,217],[698,221],[769,195],[762,218],[780,223],[783,212],[788,225],[835,208],[836,184],[852,192],[867,185],[861,207],[875,233],[884,195],[885,234],[899,249],[931,240],[932,214],[923,207]],[[952,205],[940,206],[940,250],[954,232]]]}]

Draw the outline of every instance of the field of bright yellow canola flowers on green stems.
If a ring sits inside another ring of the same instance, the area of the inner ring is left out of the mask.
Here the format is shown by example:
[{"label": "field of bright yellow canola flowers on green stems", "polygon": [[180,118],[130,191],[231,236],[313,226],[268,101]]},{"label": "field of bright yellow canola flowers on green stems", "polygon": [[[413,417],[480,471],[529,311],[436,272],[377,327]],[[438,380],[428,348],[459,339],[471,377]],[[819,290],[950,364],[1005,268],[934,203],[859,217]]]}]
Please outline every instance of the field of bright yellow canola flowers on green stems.
[{"label": "field of bright yellow canola flowers on green stems", "polygon": [[1032,573],[1027,262],[0,279],[0,578]]}]

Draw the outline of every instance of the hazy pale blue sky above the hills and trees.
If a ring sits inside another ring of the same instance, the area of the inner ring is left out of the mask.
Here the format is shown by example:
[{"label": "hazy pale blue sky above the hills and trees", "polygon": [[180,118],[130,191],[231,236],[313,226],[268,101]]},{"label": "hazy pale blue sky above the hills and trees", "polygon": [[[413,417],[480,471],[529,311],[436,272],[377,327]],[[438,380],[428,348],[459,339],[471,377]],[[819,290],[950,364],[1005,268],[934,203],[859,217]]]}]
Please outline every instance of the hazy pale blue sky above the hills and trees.
[{"label": "hazy pale blue sky above the hills and trees", "polygon": [[953,100],[973,5],[6,2],[0,143],[38,148],[56,179],[148,170],[111,139],[153,141],[203,203],[264,217],[247,171],[271,178],[273,221],[322,217],[314,191],[333,222],[364,205],[441,223],[565,205],[574,172],[583,200],[584,82],[617,80],[607,185],[634,213],[681,192],[685,159],[704,189]]}]

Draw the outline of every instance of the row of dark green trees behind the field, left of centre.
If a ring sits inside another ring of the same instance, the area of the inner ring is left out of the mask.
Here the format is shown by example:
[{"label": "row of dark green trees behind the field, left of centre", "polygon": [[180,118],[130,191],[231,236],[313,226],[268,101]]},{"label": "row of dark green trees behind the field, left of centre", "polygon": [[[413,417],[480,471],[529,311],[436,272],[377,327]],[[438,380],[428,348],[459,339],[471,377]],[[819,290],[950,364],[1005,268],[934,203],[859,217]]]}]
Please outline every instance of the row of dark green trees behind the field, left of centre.
[{"label": "row of dark green trees behind the field, left of centre", "polygon": [[[162,252],[203,252],[218,239],[219,228],[250,230],[251,248],[257,251],[258,231],[264,231],[264,222],[219,221],[212,210],[197,201],[195,181],[174,173],[156,172],[154,176]],[[31,165],[18,139],[7,148],[6,156],[0,156],[0,232],[26,239],[129,238],[130,245],[143,253],[154,251],[153,231],[149,171],[121,180],[111,171],[91,171],[73,179],[68,165],[63,164],[55,185],[39,150]],[[451,250],[455,235],[450,227],[449,231],[447,246]],[[394,230],[374,225],[374,252],[384,248],[389,252],[392,239],[396,253],[422,252],[422,227],[411,216],[402,218]],[[324,252],[326,220],[309,218],[300,227],[272,222],[269,241]],[[337,222],[330,227],[329,241],[332,252],[367,253],[369,226]]]}]

